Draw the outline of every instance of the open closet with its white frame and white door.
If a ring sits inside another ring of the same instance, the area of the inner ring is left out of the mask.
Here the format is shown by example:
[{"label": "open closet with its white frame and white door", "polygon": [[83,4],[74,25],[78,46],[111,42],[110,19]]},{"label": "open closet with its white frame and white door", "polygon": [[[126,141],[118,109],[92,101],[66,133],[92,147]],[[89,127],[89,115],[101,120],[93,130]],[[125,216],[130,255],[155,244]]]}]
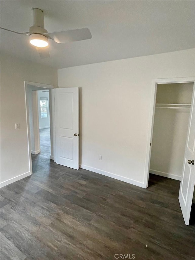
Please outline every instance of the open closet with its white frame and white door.
[{"label": "open closet with its white frame and white door", "polygon": [[[164,176],[158,176],[161,179],[176,179],[174,182],[175,185],[178,186],[179,204],[186,225],[189,225],[195,185],[194,81],[194,77],[153,80],[151,117],[144,176],[144,186],[148,187],[152,163],[153,167],[157,167],[157,165],[158,167],[166,166],[168,171],[170,171],[170,169],[172,170],[172,173],[167,173],[161,170],[155,171],[154,169],[153,173]],[[169,87],[171,87],[171,89],[169,89]],[[168,91],[166,91],[166,88],[168,88]],[[161,109],[162,111],[157,112],[158,109]],[[170,110],[163,114],[163,110],[166,109],[167,111],[168,109]],[[189,113],[187,110],[189,110]],[[158,114],[161,115],[161,117],[159,117]],[[154,133],[156,129],[158,129],[158,131],[157,133]],[[153,146],[152,142],[154,140],[156,140],[156,145],[154,144]],[[166,146],[166,144],[168,144],[168,146]],[[156,147],[156,151],[151,152],[152,146],[153,150],[155,150]],[[156,155],[160,153],[161,156],[159,158]],[[181,156],[182,154],[183,157]],[[152,158],[152,156],[154,157]]]}]

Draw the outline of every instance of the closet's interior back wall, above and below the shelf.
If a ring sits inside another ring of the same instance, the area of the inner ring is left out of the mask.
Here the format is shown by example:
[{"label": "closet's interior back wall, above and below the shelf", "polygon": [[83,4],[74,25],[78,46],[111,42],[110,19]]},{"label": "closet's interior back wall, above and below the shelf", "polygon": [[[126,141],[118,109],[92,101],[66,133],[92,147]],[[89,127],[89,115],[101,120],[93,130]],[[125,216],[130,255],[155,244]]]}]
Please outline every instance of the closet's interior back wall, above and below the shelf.
[{"label": "closet's interior back wall, above and below the shelf", "polygon": [[[193,83],[158,84],[156,103],[190,104]],[[150,173],[181,180],[190,109],[156,108]]]}]

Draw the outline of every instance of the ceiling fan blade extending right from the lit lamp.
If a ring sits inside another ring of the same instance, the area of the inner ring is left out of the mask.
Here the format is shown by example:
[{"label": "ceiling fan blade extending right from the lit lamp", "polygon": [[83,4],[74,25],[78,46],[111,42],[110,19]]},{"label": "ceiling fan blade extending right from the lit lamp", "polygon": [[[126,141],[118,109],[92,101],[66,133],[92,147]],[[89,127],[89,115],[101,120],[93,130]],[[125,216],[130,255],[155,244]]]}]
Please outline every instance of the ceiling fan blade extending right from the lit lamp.
[{"label": "ceiling fan blade extending right from the lit lamp", "polygon": [[62,32],[46,33],[43,34],[48,38],[54,40],[57,43],[72,42],[72,41],[82,41],[91,39],[91,33],[88,28],[68,30]]}]

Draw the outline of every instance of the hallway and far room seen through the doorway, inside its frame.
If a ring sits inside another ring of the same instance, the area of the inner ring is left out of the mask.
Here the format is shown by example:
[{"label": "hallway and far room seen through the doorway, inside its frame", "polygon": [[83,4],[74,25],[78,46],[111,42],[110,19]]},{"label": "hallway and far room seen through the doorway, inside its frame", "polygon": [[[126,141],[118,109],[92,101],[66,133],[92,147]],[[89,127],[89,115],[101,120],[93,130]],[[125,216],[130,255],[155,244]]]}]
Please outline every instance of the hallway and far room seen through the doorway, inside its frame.
[{"label": "hallway and far room seen through the doorway, inside its frame", "polygon": [[51,157],[49,90],[28,87],[32,172],[44,169]]}]

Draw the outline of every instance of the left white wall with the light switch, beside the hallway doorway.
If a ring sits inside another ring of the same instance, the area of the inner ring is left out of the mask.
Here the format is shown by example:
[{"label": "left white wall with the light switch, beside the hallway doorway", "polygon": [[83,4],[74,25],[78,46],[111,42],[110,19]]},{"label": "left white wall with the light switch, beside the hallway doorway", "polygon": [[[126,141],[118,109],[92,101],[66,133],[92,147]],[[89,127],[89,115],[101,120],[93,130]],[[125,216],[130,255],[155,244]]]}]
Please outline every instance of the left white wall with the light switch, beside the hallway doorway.
[{"label": "left white wall with the light switch, beside the hallway doorway", "polygon": [[56,87],[57,71],[1,53],[1,186],[29,175],[24,80]]}]

